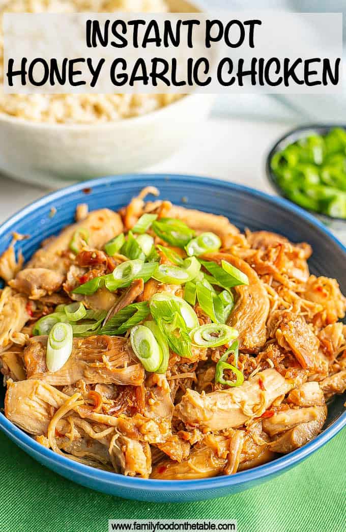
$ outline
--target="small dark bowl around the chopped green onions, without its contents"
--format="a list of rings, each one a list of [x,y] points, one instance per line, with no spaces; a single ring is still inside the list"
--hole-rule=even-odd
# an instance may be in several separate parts
[[[346,126],[340,126],[340,124],[308,124],[307,126],[301,126],[296,129],[291,129],[288,133],[286,133],[283,137],[281,137],[274,144],[271,151],[268,153],[266,157],[266,174],[267,174],[269,183],[272,185],[275,192],[279,194],[279,196],[282,196],[286,198],[286,200],[291,202],[291,200],[285,196],[285,193],[283,192],[282,188],[277,183],[277,177],[275,176],[275,173],[271,169],[271,160],[272,160],[273,155],[275,155],[277,152],[281,152],[282,149],[284,149],[289,144],[293,144],[294,142],[297,142],[297,140],[306,138],[311,134],[317,134],[317,135],[324,136],[331,129],[334,129],[335,127],[346,129]],[[293,203],[293,204],[296,205],[296,203]],[[308,211],[308,212],[311,212],[311,214],[316,216],[316,218],[318,218],[321,222],[323,222],[325,226],[329,227],[333,231],[346,231],[346,220],[344,220],[343,218],[332,218],[331,216],[328,216],[327,214],[319,214],[313,211]]]

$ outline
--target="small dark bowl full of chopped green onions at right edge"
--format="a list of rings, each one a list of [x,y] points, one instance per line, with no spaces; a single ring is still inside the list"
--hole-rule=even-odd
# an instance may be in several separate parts
[[[346,232],[346,129],[304,126],[282,137],[267,157],[277,193]]]

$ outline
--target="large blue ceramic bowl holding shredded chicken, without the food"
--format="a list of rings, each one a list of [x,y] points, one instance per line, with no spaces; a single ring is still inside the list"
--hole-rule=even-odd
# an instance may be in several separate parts
[[[240,229],[248,227],[251,230],[273,230],[293,242],[309,242],[314,248],[314,255],[309,262],[311,273],[337,278],[342,291],[346,293],[346,248],[316,218],[282,198],[201,177],[157,174],[116,176],[58,190],[32,203],[0,227],[0,253],[9,245],[12,231],[18,231],[30,234],[30,239],[21,243],[24,256],[28,259],[39,247],[41,240],[56,234],[73,221],[78,203],[87,202],[90,210],[99,207],[119,209],[148,184],[157,186],[163,199],[223,214]],[[57,209],[53,218],[49,215],[52,207]],[[3,396],[4,392],[2,401]],[[202,480],[146,480],[100,471],[46,449],[15,427],[2,413],[0,428],[38,462],[83,486],[139,501],[187,502],[222,497],[248,489],[298,464],[346,425],[344,401],[342,396],[335,399],[328,409],[323,432],[297,451],[255,469]]]

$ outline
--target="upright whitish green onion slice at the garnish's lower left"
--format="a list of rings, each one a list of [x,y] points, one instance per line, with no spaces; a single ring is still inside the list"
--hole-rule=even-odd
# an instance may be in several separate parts
[[[49,332],[46,363],[49,371],[58,371],[70,358],[73,331],[70,323],[56,323]]]

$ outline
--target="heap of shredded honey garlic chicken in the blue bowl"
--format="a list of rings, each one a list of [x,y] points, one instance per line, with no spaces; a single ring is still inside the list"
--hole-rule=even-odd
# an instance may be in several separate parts
[[[158,196],[159,191],[146,187],[119,213],[89,212],[87,204],[78,205],[76,223],[49,237],[26,265],[18,244],[23,237],[13,235],[0,257],[6,417],[57,454],[141,478],[234,475],[305,445],[323,430],[328,401],[346,392],[346,325],[338,321],[344,318],[346,299],[337,281],[310,275],[312,250],[306,243],[291,243],[268,231],[241,234],[224,216],[158,198],[146,201],[149,194]],[[178,219],[196,236],[211,231],[220,237],[220,250],[199,258],[219,266],[226,261],[248,279],[248,284],[238,280],[228,287],[234,305],[225,328],[234,329],[239,352],[234,346],[228,350],[230,341],[214,347],[196,343],[195,337],[192,342],[183,310],[169,315],[167,305],[162,315],[151,315],[146,302],[155,294],[175,301],[188,295],[174,279],[170,284],[157,280],[155,270],[158,265],[184,268],[183,245],[165,242],[154,225],[147,230],[154,247],[145,263],[137,259],[144,257],[140,240],[130,251],[106,253],[108,240],[122,232],[128,238],[127,232],[146,213]],[[76,236],[79,248],[70,246]],[[173,237],[179,240],[179,235]],[[166,253],[158,245],[167,246]],[[134,253],[134,264],[152,266],[155,275],[129,274],[129,280],[109,289],[107,279],[118,278],[122,268],[125,279],[132,271],[126,269],[130,257],[124,253]],[[202,266],[197,279],[212,284],[215,311],[226,287],[209,273]],[[74,293],[88,281],[95,290]],[[210,327],[211,343],[218,335],[214,322],[223,322],[223,314],[219,309],[216,318],[210,302],[199,296],[195,301],[194,281],[188,310],[193,328],[198,323]],[[49,329],[54,320],[66,322],[64,305],[73,302],[82,317],[70,320],[74,337],[69,358],[52,372],[47,365]],[[141,337],[143,351],[138,351],[131,335],[133,326],[150,327],[148,321],[156,331],[157,363],[161,360],[154,372],[146,369],[153,345]],[[50,323],[48,330],[42,323]],[[190,346],[190,354],[180,351],[178,340]]]

